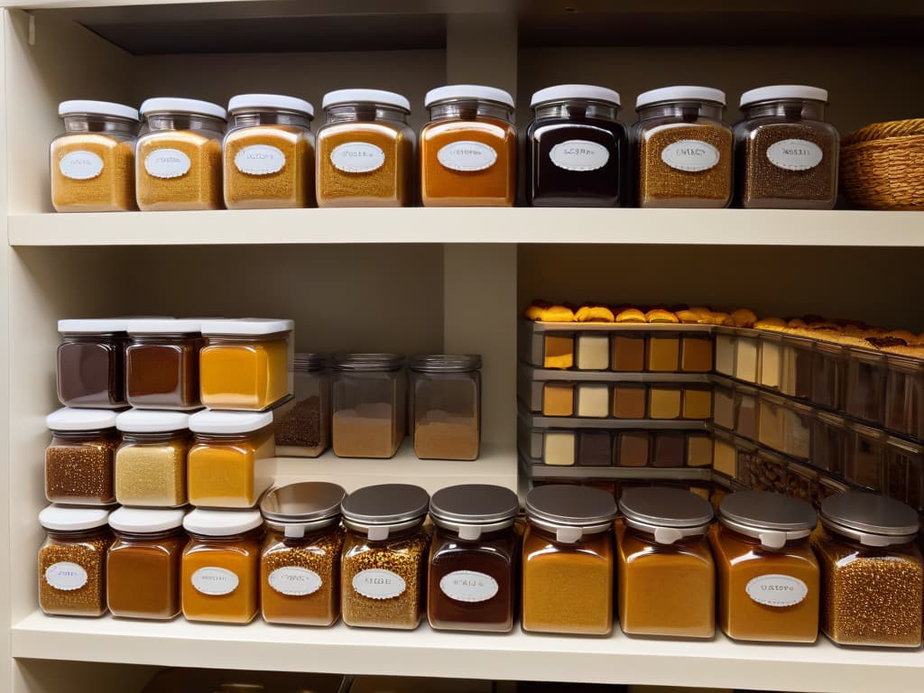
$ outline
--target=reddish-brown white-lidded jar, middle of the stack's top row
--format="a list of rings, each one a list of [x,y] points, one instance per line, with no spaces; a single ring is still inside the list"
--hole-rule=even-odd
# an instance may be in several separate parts
[[[199,402],[198,320],[130,320],[125,350],[128,404],[147,409],[196,409]]]

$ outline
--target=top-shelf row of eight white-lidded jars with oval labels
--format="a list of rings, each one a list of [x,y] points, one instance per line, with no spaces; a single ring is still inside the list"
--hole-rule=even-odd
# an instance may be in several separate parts
[[[725,207],[734,188],[744,207],[830,209],[839,136],[824,120],[827,99],[798,85],[747,91],[733,133],[723,91],[667,87],[638,96],[638,123],[627,133],[616,91],[537,91],[525,137],[528,201]],[[65,132],[51,145],[52,201],[59,212],[400,207],[416,203],[419,183],[424,206],[512,206],[513,97],[452,85],[424,103],[430,122],[418,142],[410,103],[391,91],[327,93],[317,138],[313,106],[290,96],[241,94],[227,110],[180,98],[148,99],[140,112],[64,102]]]

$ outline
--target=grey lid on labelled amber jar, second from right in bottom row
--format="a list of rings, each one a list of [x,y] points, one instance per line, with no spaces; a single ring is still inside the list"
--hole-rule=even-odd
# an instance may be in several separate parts
[[[719,505],[719,520],[728,529],[759,539],[767,549],[782,549],[786,541],[808,537],[818,524],[811,505],[769,491],[729,493]]]

